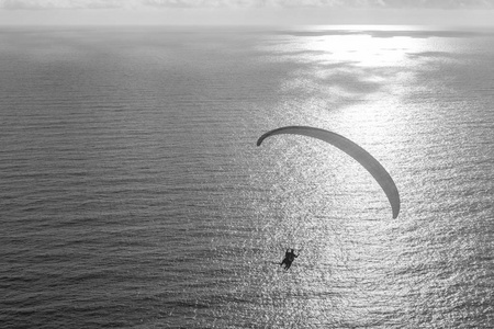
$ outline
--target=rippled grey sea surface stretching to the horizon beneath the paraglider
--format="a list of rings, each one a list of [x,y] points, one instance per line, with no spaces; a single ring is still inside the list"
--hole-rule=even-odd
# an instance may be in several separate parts
[[[493,328],[493,64],[480,30],[0,27],[0,327]],[[337,148],[256,146],[287,125],[398,217]]]

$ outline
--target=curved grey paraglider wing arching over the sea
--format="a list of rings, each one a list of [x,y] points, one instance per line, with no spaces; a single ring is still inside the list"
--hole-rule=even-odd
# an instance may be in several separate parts
[[[372,157],[367,150],[364,150],[350,139],[336,133],[305,126],[288,126],[272,129],[259,137],[259,139],[257,140],[257,146],[260,146],[266,138],[280,134],[294,134],[317,138],[329,143],[330,145],[339,148],[340,150],[352,157],[360,164],[362,164],[363,168],[366,168],[378,181],[379,185],[381,185],[382,190],[388,196],[388,200],[390,201],[391,208],[393,211],[393,218],[397,217],[400,213],[400,194],[396,185],[394,184],[393,179],[384,169],[384,167],[382,167],[382,164],[379,163],[379,161],[375,160],[375,158]]]

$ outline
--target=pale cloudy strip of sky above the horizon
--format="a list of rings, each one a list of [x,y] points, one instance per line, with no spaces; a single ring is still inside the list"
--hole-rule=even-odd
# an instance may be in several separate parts
[[[494,0],[0,0],[0,25],[494,26]]]

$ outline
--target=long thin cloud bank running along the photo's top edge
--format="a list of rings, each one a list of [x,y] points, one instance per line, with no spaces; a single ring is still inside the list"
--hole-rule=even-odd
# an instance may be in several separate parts
[[[0,0],[0,9],[391,8],[494,9],[494,0]]]

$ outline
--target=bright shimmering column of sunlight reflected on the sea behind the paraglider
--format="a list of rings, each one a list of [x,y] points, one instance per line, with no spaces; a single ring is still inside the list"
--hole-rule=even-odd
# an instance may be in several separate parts
[[[284,33],[273,56],[288,71],[273,126],[310,125],[350,138],[384,166],[405,202],[393,220],[386,196],[369,172],[324,143],[283,136],[266,146],[282,163],[273,179],[281,183],[271,184],[270,200],[278,215],[273,241],[282,243],[273,242],[271,249],[303,250],[289,279],[297,290],[284,296],[313,296],[285,306],[289,315],[302,309],[304,321],[321,327],[337,327],[339,313],[357,322],[400,308],[385,298],[403,295],[388,273],[401,248],[391,237],[411,213],[409,182],[403,174],[404,166],[414,166],[407,164],[409,136],[416,135],[409,124],[411,95],[428,88],[417,83],[424,72],[453,60],[446,47],[430,50],[446,43],[434,36],[357,30]],[[349,299],[353,303],[345,304]]]

